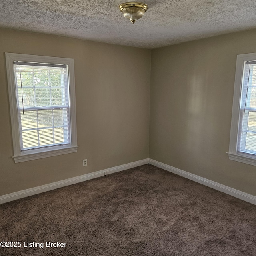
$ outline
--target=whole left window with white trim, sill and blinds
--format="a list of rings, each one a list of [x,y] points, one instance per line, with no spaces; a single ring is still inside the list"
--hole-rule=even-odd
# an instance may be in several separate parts
[[[14,161],[77,151],[74,60],[6,53]]]

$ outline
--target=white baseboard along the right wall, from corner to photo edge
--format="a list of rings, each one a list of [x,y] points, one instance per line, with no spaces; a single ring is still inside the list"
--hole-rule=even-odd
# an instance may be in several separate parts
[[[230,188],[228,186],[222,185],[220,183],[214,182],[212,180],[208,180],[206,178],[202,178],[200,176],[197,176],[195,174],[192,174],[190,172],[185,172],[183,170],[180,170],[178,168],[172,167],[170,165],[167,164],[163,164],[161,162],[158,162],[156,160],[153,159],[149,159],[149,164],[152,164],[154,166],[157,166],[159,168],[162,168],[168,172],[172,172],[175,174],[178,174],[184,178],[187,178],[189,180],[194,180],[195,182],[198,182],[200,184],[203,184],[205,186],[208,186],[210,188],[214,188],[218,191],[224,192],[226,194],[229,194],[230,196],[234,196],[236,198],[239,198],[241,200],[244,200],[246,202],[249,202],[251,204],[255,204],[256,205],[256,196],[252,196],[250,194],[244,193],[240,190],[236,190],[234,188]]]

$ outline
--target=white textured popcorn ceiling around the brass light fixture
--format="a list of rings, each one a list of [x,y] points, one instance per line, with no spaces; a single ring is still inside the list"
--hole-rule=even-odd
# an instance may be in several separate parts
[[[120,0],[0,0],[0,27],[158,48],[256,28],[256,0],[145,0],[132,24]]]

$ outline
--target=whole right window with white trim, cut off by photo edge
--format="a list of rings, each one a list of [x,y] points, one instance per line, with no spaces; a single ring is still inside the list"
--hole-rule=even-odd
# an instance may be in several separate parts
[[[256,53],[237,56],[228,155],[256,166]]]

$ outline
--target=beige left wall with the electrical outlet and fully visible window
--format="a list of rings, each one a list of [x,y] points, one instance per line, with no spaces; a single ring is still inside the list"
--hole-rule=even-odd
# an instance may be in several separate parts
[[[74,58],[78,152],[14,164],[5,52]],[[0,195],[148,158],[150,58],[150,50],[0,29]]]

